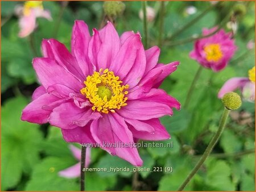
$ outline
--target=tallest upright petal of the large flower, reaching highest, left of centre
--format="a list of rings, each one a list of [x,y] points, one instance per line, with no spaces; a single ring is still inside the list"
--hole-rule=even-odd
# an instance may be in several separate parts
[[[84,76],[92,74],[92,65],[88,57],[88,46],[90,33],[87,24],[82,20],[75,20],[72,32],[71,50],[72,55],[76,57]]]

